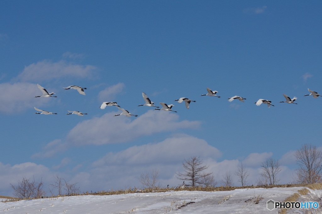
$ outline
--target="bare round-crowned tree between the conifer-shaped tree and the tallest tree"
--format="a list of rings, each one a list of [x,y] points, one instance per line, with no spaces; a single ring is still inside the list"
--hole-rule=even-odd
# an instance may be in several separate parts
[[[260,173],[260,176],[264,179],[269,181],[269,185],[275,185],[279,182],[280,179],[277,179],[277,174],[282,170],[280,167],[279,160],[275,160],[272,158],[268,158],[265,161],[262,162],[260,165],[262,168],[262,172]]]

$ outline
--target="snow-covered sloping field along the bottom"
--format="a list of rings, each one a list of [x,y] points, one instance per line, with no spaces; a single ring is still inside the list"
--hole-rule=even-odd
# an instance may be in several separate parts
[[[279,209],[266,208],[267,201],[283,201],[304,187],[272,189],[236,189],[232,191],[169,191],[130,193],[110,196],[69,196],[0,203],[0,213],[12,214],[106,214],[106,213],[245,213],[277,214]],[[317,201],[318,209],[290,209],[288,213],[321,212],[322,190],[310,190],[298,201]],[[261,199],[262,198],[262,199]],[[260,199],[256,203],[256,199]],[[246,202],[245,202],[246,201]],[[193,203],[190,203],[193,202]],[[183,206],[186,205],[186,206]]]

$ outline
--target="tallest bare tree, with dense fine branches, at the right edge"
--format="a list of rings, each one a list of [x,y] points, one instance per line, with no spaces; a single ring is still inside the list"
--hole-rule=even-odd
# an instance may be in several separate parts
[[[298,169],[295,180],[298,183],[322,182],[322,152],[312,144],[303,144],[294,154]]]

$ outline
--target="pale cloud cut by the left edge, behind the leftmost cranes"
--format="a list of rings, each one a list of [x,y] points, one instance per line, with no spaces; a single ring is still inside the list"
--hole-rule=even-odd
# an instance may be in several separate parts
[[[1,83],[0,91],[0,112],[9,114],[22,112],[28,108],[39,108],[39,106],[52,101],[52,97],[35,98],[43,93],[36,84],[31,83]]]

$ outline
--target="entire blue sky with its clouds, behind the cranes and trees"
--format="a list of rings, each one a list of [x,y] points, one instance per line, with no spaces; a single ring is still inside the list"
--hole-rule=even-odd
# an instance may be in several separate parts
[[[59,174],[82,191],[139,186],[137,176],[153,168],[175,186],[192,155],[216,180],[243,161],[253,184],[261,161],[280,159],[281,182],[292,182],[294,151],[321,146],[322,99],[303,97],[308,88],[322,93],[319,8],[319,1],[3,2],[0,195],[33,175],[48,184]],[[37,83],[57,98],[34,98]],[[69,85],[86,87],[86,96],[64,91]],[[201,97],[207,87],[221,98]],[[177,113],[137,107],[142,92]],[[279,103],[283,93],[298,105]],[[226,100],[234,95],[247,100]],[[186,109],[174,102],[180,97],[196,102]],[[275,106],[256,106],[258,99]],[[113,117],[120,111],[101,110],[103,101],[139,117]]]

